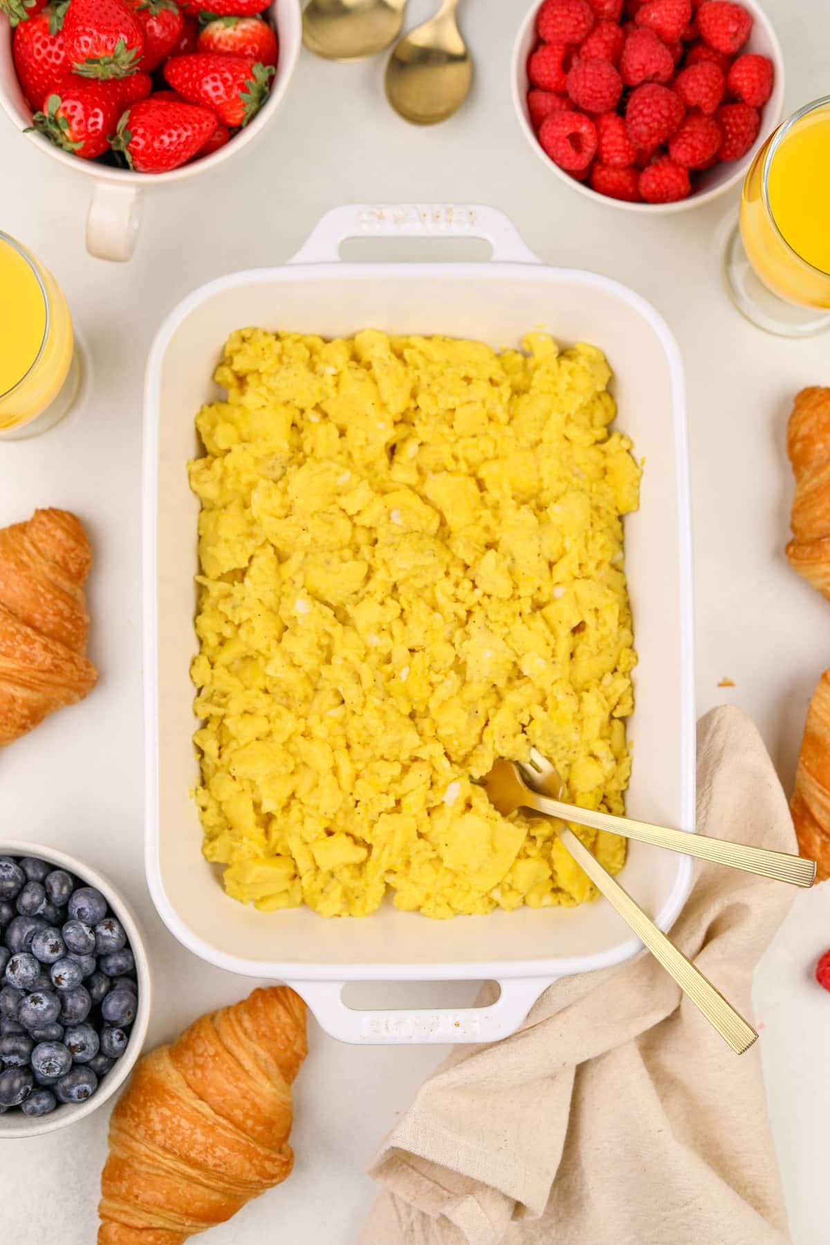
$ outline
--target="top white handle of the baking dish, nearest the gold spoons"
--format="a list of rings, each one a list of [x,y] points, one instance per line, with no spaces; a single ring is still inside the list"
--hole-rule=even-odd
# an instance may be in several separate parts
[[[497,261],[539,264],[498,208],[457,203],[355,203],[332,208],[289,264],[332,264],[347,238],[482,238]]]

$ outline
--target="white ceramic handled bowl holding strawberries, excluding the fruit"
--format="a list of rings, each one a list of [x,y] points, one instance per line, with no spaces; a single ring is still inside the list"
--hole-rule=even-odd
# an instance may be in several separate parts
[[[34,131],[26,134],[26,138],[35,143],[44,154],[51,156],[52,159],[60,161],[67,168],[92,179],[92,199],[86,227],[86,244],[90,254],[97,255],[100,259],[129,259],[141,224],[142,190],[156,190],[185,178],[214,172],[220,164],[238,156],[273,121],[274,113],[285,98],[302,45],[300,0],[275,0],[268,10],[268,16],[280,40],[280,59],[276,76],[271,80],[269,97],[251,123],[234,134],[230,142],[220,147],[213,156],[205,156],[204,159],[193,164],[183,164],[182,168],[174,168],[172,173],[133,173],[131,169],[110,168],[95,161],[78,159],[77,156],[61,151],[60,147]],[[0,106],[5,110],[11,123],[17,129],[24,131],[31,126],[31,108],[17,82],[11,56],[11,27],[7,21],[1,20]],[[34,190],[35,187],[32,187],[32,193]]]

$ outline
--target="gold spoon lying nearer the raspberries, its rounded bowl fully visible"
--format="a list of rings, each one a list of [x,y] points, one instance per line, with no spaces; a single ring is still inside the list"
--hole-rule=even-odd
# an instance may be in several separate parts
[[[458,0],[443,0],[436,16],[404,35],[389,55],[387,100],[416,126],[452,117],[469,93],[473,60],[458,30],[457,9]]]

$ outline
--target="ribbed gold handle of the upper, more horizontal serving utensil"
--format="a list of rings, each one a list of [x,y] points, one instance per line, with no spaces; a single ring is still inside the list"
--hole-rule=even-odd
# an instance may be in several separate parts
[[[528,793],[528,804],[549,817],[576,822],[577,825],[590,825],[595,830],[625,834],[627,839],[638,839],[657,848],[668,848],[669,852],[701,857],[716,864],[728,864],[733,869],[760,874],[762,878],[789,881],[793,886],[811,886],[815,881],[815,860],[808,860],[805,857],[769,852],[767,848],[753,848],[745,843],[730,843],[725,839],[711,839],[706,834],[688,834],[686,830],[669,829],[667,825],[632,822],[628,817],[613,817],[611,813],[577,808],[575,804],[564,804],[559,799],[550,799],[535,792]]]

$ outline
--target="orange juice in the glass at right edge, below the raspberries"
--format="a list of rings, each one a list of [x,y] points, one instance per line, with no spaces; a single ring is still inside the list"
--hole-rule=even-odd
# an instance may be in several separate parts
[[[830,101],[772,134],[747,174],[740,238],[764,285],[801,308],[830,308]]]

